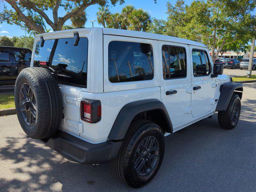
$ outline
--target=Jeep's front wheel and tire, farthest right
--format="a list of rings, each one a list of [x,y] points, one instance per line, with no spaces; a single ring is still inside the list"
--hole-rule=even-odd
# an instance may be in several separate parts
[[[237,94],[233,94],[227,110],[218,112],[219,125],[224,129],[233,129],[238,124],[241,112],[241,100]]]

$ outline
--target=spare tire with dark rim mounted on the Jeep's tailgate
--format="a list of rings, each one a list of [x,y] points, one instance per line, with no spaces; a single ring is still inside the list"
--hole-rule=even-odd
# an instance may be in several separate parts
[[[42,139],[57,132],[62,119],[62,98],[49,70],[23,69],[16,79],[14,98],[18,121],[29,137]]]

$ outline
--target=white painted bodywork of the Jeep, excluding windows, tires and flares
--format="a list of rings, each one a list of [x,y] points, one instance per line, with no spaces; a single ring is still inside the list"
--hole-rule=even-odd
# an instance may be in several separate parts
[[[230,81],[225,75],[217,78],[211,78],[211,75],[194,78],[191,49],[207,50],[207,48],[204,44],[181,38],[128,30],[84,28],[41,34],[35,38],[35,44],[40,40],[40,36],[45,40],[72,38],[74,32],[79,32],[80,37],[88,38],[87,88],[59,84],[64,107],[64,118],[60,129],[90,143],[105,142],[121,108],[130,102],[145,99],[157,99],[164,103],[175,132],[213,114],[217,103],[211,105],[211,100],[219,98],[220,85]],[[154,78],[145,81],[111,83],[108,78],[108,44],[113,40],[151,44],[154,53]],[[35,44],[31,67],[33,67]],[[186,48],[186,78],[164,80],[161,50],[163,44]],[[217,87],[212,88],[212,83],[216,83]],[[193,89],[196,85],[200,85],[202,89],[195,93],[192,90],[192,94],[186,93],[187,88]],[[165,93],[170,89],[175,89],[178,93],[167,96]],[[77,102],[79,99],[100,100],[102,115],[99,122],[91,124],[81,120],[80,105]],[[189,107],[192,114],[184,114],[185,109]],[[79,132],[81,124],[83,131]]]

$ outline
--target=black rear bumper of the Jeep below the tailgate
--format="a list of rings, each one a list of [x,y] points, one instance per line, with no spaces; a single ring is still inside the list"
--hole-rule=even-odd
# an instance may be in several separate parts
[[[122,141],[92,144],[64,132],[58,132],[54,137],[41,141],[64,157],[80,164],[109,162],[118,156],[122,145]]]

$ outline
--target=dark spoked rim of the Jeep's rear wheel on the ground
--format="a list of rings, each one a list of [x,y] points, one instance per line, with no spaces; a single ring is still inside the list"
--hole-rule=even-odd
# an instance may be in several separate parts
[[[159,158],[159,142],[154,136],[144,138],[134,156],[134,169],[139,176],[149,174],[155,167]]]

